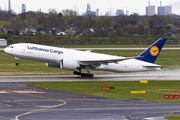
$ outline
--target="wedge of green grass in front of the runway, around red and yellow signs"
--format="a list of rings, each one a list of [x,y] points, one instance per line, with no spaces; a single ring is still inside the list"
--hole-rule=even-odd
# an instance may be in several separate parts
[[[180,94],[180,81],[85,81],[85,82],[44,82],[28,86],[51,90],[73,92],[118,100],[164,99],[164,95]],[[102,86],[115,87],[114,90],[101,90]],[[131,94],[131,91],[146,91],[145,94]]]

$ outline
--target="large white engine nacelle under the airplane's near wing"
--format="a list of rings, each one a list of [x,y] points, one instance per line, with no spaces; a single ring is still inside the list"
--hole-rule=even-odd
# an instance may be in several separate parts
[[[66,70],[76,70],[80,65],[75,60],[64,58],[60,61],[60,67]]]

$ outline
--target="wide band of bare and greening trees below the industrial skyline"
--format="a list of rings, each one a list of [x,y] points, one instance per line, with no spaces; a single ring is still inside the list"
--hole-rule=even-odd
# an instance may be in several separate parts
[[[79,31],[77,31],[76,36],[86,29],[92,28],[94,31],[94,33],[82,33],[79,41],[70,35],[59,37],[58,41],[66,41],[63,43],[68,43],[68,41],[76,41],[77,44],[80,41],[90,43],[94,39],[93,37],[106,37],[100,40],[96,39],[99,42],[98,44],[106,43],[105,41],[120,44],[126,40],[132,40],[138,43],[137,41],[139,39],[154,41],[159,37],[168,37],[174,40],[174,43],[177,43],[180,34],[180,17],[172,17],[170,15],[140,16],[136,13],[130,16],[94,16],[90,14],[79,16],[73,10],[68,9],[61,12],[57,12],[55,9],[49,9],[48,13],[28,11],[19,15],[13,12],[0,11],[0,27],[9,27],[13,31],[13,35],[8,35],[10,42],[17,42],[18,40],[23,42],[22,39],[27,38],[27,36],[17,37],[17,35],[21,29],[25,29],[28,26],[33,26],[36,29],[49,29],[51,31],[53,31],[55,26],[61,26],[67,30],[71,27],[78,27]],[[14,37],[14,34],[16,37]],[[174,34],[176,36],[171,38]],[[44,36],[48,35],[37,33],[35,36],[29,37],[28,42],[36,41],[39,43],[39,41],[46,39],[46,42],[53,43],[52,41],[55,41],[57,43],[58,37],[54,37],[52,34],[47,38]]]

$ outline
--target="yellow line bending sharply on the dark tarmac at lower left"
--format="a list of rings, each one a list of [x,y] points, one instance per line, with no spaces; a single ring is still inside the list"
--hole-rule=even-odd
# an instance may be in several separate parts
[[[23,94],[23,93],[19,93],[19,94]],[[52,109],[52,108],[56,108],[56,107],[66,105],[66,101],[63,101],[63,100],[60,100],[60,99],[51,99],[51,98],[46,98],[46,97],[41,97],[41,96],[36,96],[36,95],[29,95],[29,94],[23,94],[23,95],[33,96],[33,97],[38,97],[38,98],[44,98],[44,99],[47,99],[47,100],[56,100],[56,101],[63,102],[63,104],[50,106],[50,107],[43,108],[43,109],[32,110],[30,112],[26,112],[26,113],[23,113],[23,114],[20,114],[20,115],[16,116],[15,120],[19,120],[19,117],[24,116],[24,115],[33,114],[33,113],[36,113],[36,112],[43,112],[44,110],[48,110],[48,109]]]

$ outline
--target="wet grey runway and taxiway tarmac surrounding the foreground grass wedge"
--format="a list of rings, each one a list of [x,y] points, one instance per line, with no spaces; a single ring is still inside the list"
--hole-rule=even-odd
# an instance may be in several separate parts
[[[121,101],[26,86],[30,82],[43,81],[124,81],[135,78],[133,75],[113,76],[95,76],[94,79],[77,76],[1,76],[0,120],[163,120],[163,116],[180,114],[179,103]],[[139,79],[143,77],[150,79],[152,76],[139,75]],[[163,79],[163,76],[156,77]],[[180,76],[176,77],[179,80]],[[167,76],[164,78],[167,79]]]

